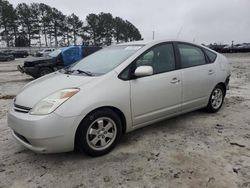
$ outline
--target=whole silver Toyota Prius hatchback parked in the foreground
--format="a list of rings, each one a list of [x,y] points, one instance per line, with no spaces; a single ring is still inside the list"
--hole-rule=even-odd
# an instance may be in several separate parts
[[[226,95],[227,59],[182,41],[104,48],[27,84],[8,112],[14,138],[40,153],[99,156],[121,136],[193,110],[217,112]]]

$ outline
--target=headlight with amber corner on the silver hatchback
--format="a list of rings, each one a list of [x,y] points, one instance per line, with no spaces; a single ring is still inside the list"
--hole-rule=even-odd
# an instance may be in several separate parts
[[[80,89],[63,89],[57,91],[52,95],[46,97],[45,99],[39,101],[30,111],[32,115],[46,115],[53,112],[70,97],[78,93]]]

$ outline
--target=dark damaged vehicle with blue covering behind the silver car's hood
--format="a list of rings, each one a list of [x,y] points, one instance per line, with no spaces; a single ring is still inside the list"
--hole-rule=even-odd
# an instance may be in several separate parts
[[[96,46],[70,46],[60,48],[51,52],[46,57],[27,59],[24,61],[23,66],[18,65],[17,68],[22,73],[38,78],[69,66],[99,49],[101,49],[101,47]]]

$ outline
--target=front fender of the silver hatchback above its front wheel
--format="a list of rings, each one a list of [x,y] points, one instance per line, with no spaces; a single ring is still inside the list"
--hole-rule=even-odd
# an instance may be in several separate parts
[[[115,107],[124,114],[129,130],[132,126],[130,83],[118,79],[115,72],[80,87],[79,93],[62,104],[55,113],[64,117],[80,116],[83,119],[93,110],[106,106]]]

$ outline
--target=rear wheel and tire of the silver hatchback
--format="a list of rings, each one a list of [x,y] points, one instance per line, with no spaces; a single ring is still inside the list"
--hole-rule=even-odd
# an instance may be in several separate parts
[[[210,95],[206,110],[210,113],[218,112],[224,103],[225,95],[225,88],[221,85],[217,85]]]

